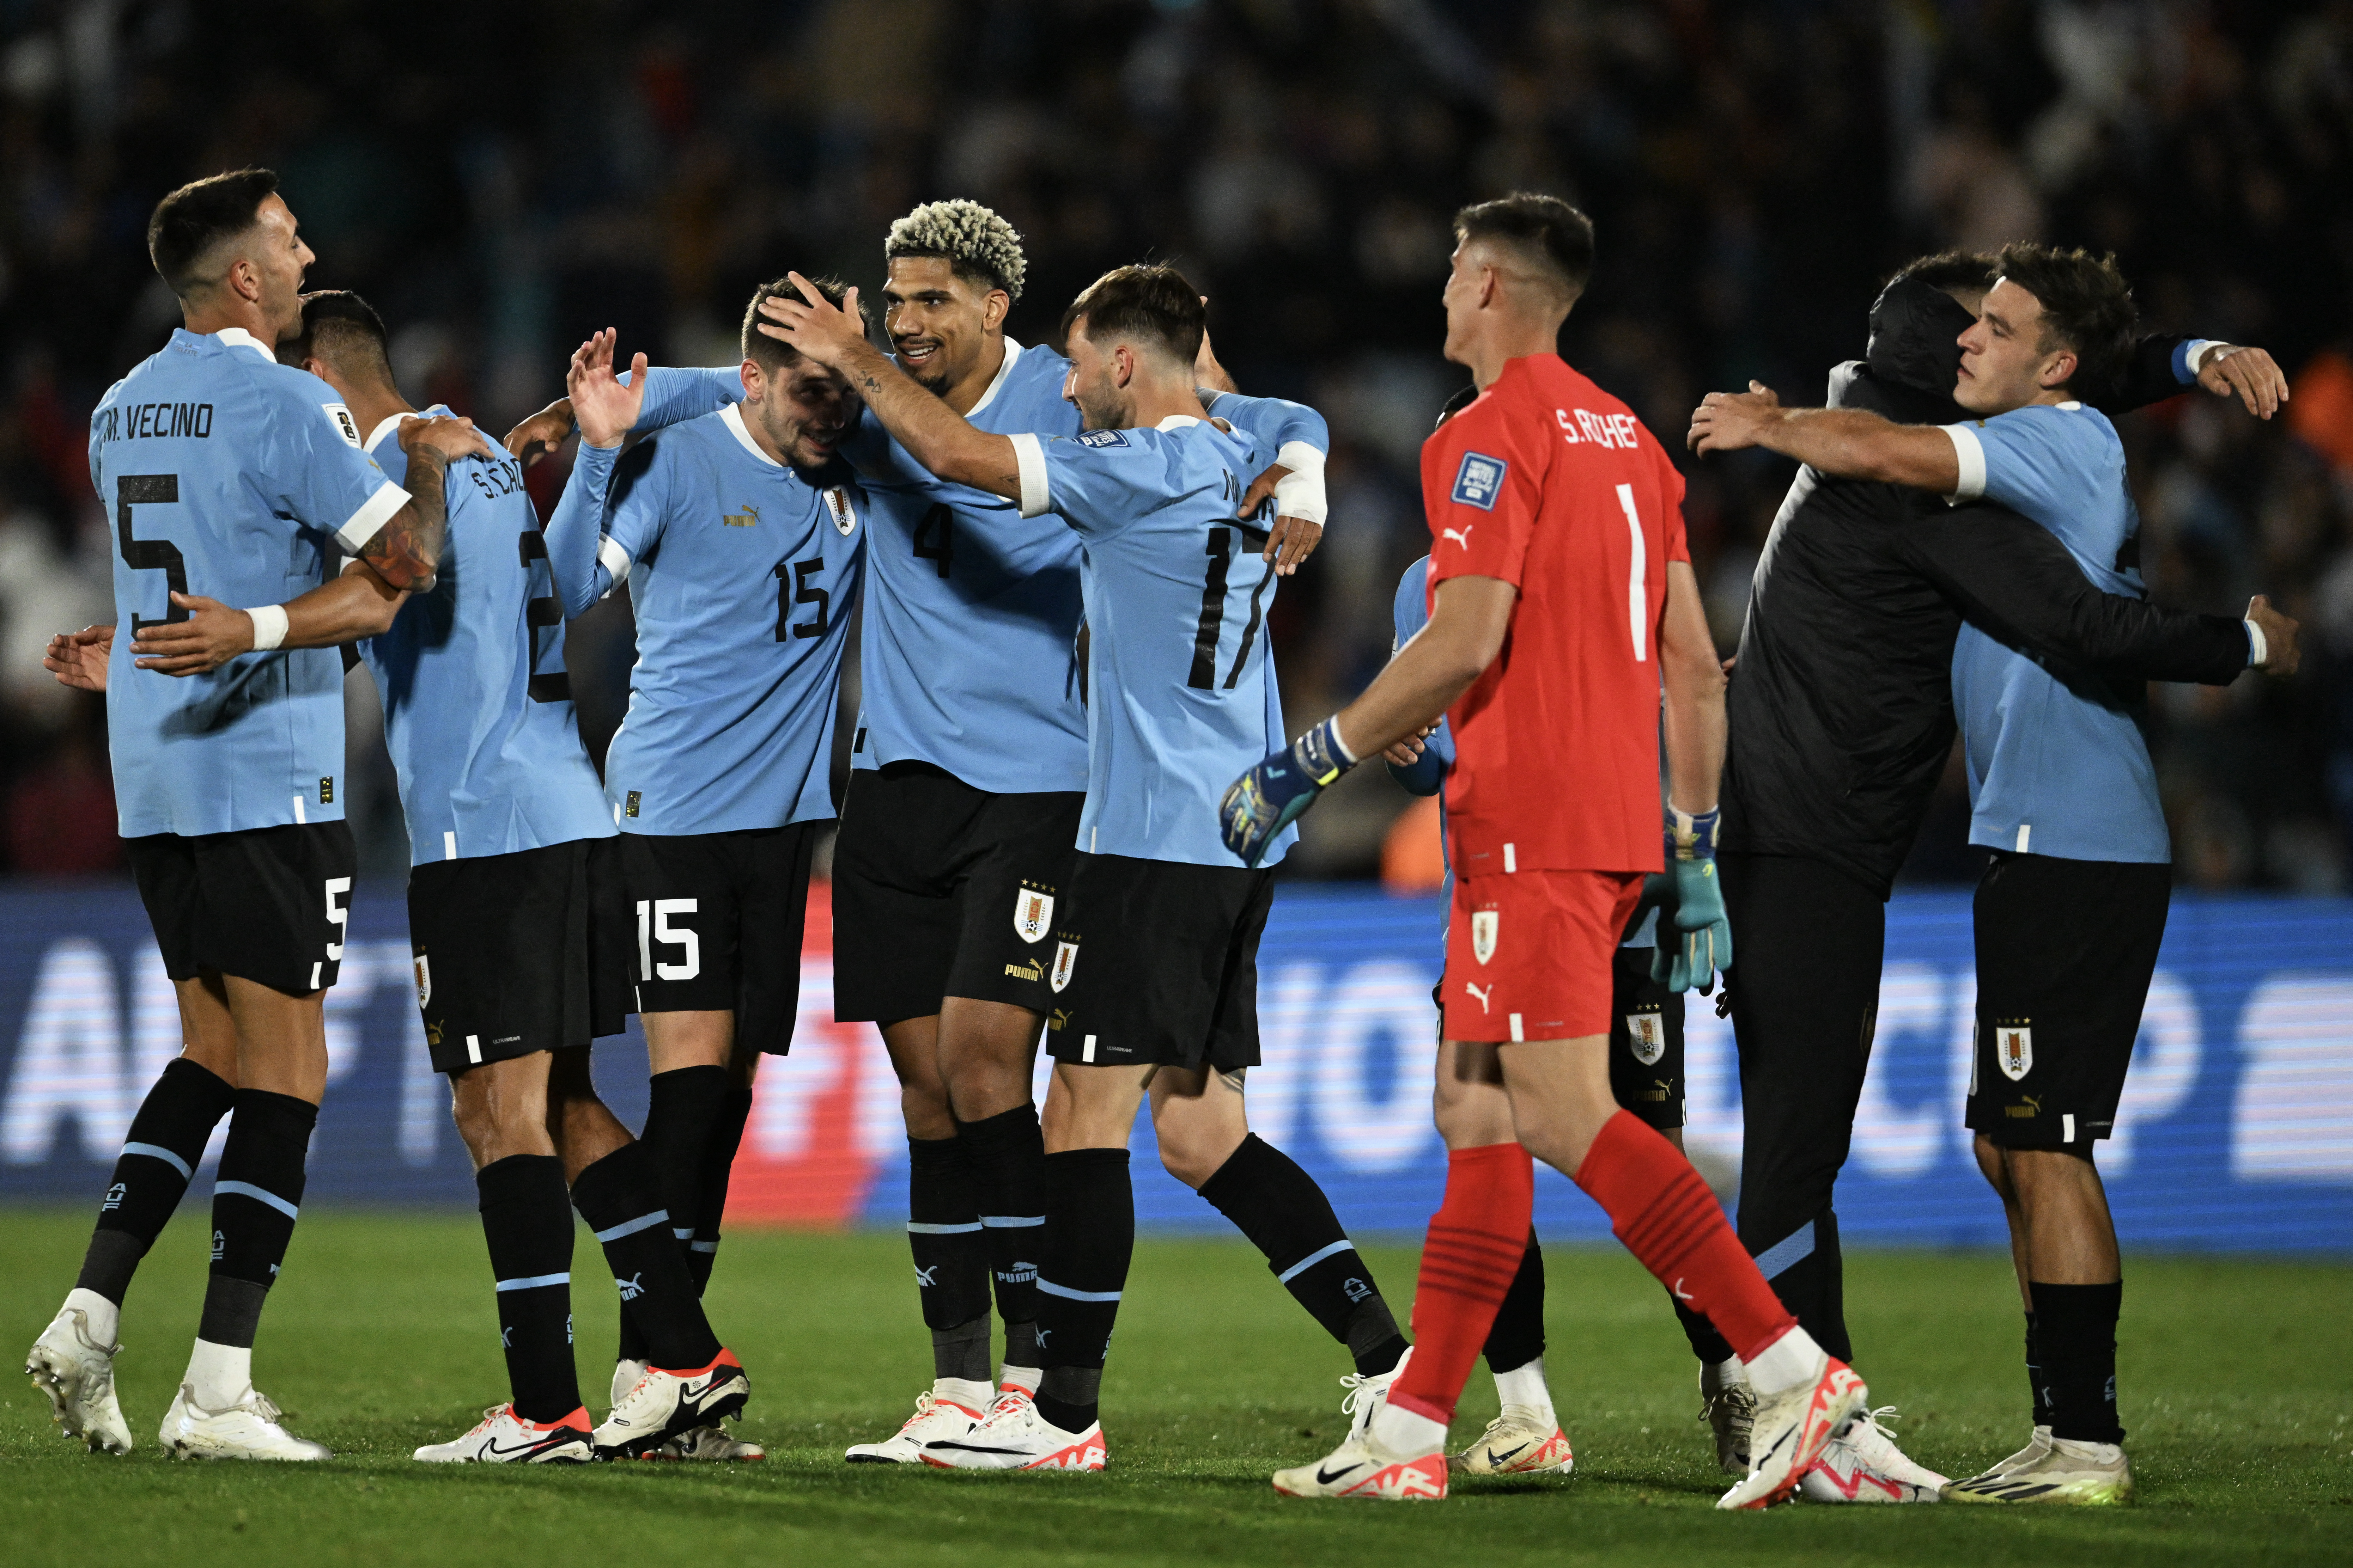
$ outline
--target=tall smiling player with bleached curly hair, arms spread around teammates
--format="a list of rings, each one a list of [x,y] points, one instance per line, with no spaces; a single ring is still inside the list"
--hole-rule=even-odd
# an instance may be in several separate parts
[[[882,327],[918,386],[981,430],[1080,430],[1061,395],[1068,362],[1005,334],[1026,261],[1002,216],[967,200],[925,202],[892,223],[882,249]],[[1207,339],[1195,378],[1226,383]],[[732,369],[652,369],[635,428],[739,395]],[[1322,418],[1231,390],[1207,400],[1278,449],[1235,515],[1273,496],[1261,555],[1289,571],[1325,515]],[[548,416],[508,442],[560,440],[572,414],[558,404]],[[1080,541],[1056,517],[1028,520],[1005,496],[934,477],[871,416],[842,437],[842,454],[866,482],[875,545],[833,849],[835,1016],[878,1023],[899,1074],[908,1244],[934,1371],[899,1432],[845,1458],[911,1465],[995,1399],[991,1274],[1005,1319],[1000,1380],[1019,1394],[1038,1387],[1045,1145],[1031,1067],[1054,1006],[1047,938],[1087,788]],[[1249,1161],[1202,1197],[1224,1208],[1247,1175]],[[1268,1255],[1278,1274],[1299,1262],[1282,1248]],[[1292,1286],[1325,1288],[1315,1269]]]

